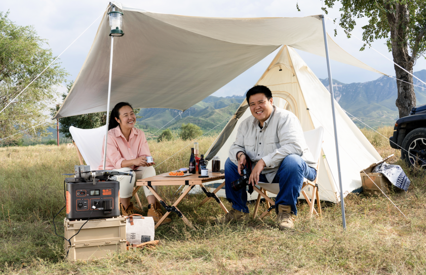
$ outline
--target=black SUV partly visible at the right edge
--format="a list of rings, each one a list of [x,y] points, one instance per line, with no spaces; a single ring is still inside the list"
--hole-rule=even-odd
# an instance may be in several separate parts
[[[389,140],[392,148],[401,149],[401,159],[408,165],[426,169],[426,104],[397,120]]]

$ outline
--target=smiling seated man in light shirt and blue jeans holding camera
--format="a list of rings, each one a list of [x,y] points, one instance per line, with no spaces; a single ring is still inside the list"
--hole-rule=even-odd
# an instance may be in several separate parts
[[[226,198],[233,204],[220,221],[247,221],[249,209],[245,188],[236,191],[231,182],[241,176],[246,160],[252,162],[249,184],[277,183],[280,192],[275,201],[277,223],[281,230],[293,228],[292,215],[297,214],[296,201],[303,178],[315,180],[316,160],[306,146],[302,127],[290,111],[273,105],[272,93],[265,86],[255,86],[246,95],[253,116],[238,128],[237,138],[225,163]]]

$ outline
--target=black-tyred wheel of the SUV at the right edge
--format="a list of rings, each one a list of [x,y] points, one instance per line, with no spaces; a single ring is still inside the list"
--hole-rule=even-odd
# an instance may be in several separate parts
[[[414,168],[426,169],[426,128],[409,132],[402,141],[401,159]]]

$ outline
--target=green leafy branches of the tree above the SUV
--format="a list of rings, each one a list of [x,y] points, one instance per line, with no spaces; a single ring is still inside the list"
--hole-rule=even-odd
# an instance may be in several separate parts
[[[332,8],[336,2],[342,5],[338,23],[348,31],[351,32],[354,29],[356,19],[368,18],[368,24],[362,27],[364,30],[362,38],[368,44],[385,38],[389,51],[395,51],[395,47],[403,48],[408,45],[412,63],[426,51],[425,0],[325,0],[326,7],[322,9],[327,14],[327,7]],[[398,14],[402,9],[407,9],[405,16]],[[336,19],[334,21],[336,22]],[[392,40],[391,28],[402,30],[404,35],[398,35]],[[334,31],[336,35],[337,30]],[[349,33],[346,35],[351,36]],[[365,46],[361,50],[364,50]]]

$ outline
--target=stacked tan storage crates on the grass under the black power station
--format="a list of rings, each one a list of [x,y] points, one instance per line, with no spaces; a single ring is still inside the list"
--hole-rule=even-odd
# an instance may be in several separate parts
[[[65,218],[65,239],[77,233],[85,222]],[[65,251],[69,249],[68,260],[71,262],[109,258],[117,250],[126,250],[126,218],[89,220],[70,241],[71,247],[65,241]]]

